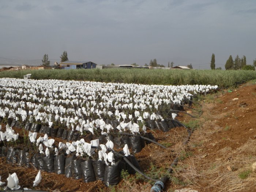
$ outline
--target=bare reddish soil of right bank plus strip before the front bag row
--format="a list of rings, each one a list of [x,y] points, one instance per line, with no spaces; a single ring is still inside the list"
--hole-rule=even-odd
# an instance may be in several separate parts
[[[166,192],[182,188],[205,192],[256,191],[256,173],[251,172],[251,165],[256,162],[256,85],[244,84],[232,92],[219,91],[200,102],[203,113],[188,146],[182,145],[187,137],[184,128],[155,131],[157,141],[168,149],[153,143],[146,145],[136,154],[140,166],[150,176],[155,169],[161,170],[160,177],[177,155],[183,155],[166,183]],[[0,167],[1,181],[7,182],[8,174],[16,172],[22,187],[45,191],[150,191],[153,184],[136,175],[108,188],[101,181],[84,183],[82,179],[42,172],[41,183],[33,188],[38,170],[6,164],[5,158],[0,158]],[[245,171],[249,174],[240,178]]]

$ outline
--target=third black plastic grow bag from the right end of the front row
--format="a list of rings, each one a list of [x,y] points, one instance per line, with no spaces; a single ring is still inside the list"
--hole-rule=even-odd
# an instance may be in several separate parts
[[[91,159],[81,162],[82,177],[84,182],[96,181],[93,161]]]

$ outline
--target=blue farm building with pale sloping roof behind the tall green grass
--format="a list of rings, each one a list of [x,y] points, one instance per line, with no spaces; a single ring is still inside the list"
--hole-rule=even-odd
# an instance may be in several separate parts
[[[57,66],[61,69],[93,69],[96,68],[96,65],[91,61],[64,61]]]

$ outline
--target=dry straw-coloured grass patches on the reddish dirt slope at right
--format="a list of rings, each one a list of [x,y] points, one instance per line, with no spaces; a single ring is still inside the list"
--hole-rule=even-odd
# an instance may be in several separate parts
[[[211,138],[219,127],[216,121],[223,117],[212,116],[210,111],[214,104],[204,104],[206,113],[201,117],[202,128],[193,133],[188,147],[204,142]],[[203,130],[203,131],[202,131]],[[180,161],[174,169],[173,177],[181,184],[173,183],[170,191],[176,188],[190,187],[199,191],[253,191],[256,189],[256,173],[252,173],[252,163],[256,162],[256,140],[248,139],[241,147],[232,150],[222,148],[214,154],[214,158],[207,153],[199,152]]]

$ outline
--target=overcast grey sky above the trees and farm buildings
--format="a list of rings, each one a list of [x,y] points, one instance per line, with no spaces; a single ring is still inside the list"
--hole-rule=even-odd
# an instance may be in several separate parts
[[[0,0],[0,26],[0,57],[11,59],[66,50],[97,64],[209,69],[214,53],[224,69],[230,54],[256,58],[256,0]]]

